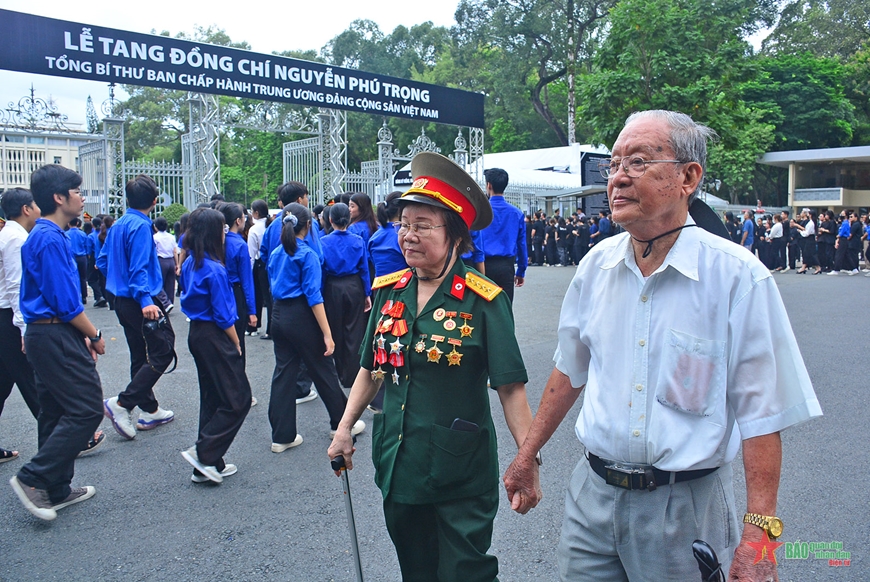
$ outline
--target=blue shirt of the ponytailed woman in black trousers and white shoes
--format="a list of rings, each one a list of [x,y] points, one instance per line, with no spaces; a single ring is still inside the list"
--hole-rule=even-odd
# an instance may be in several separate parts
[[[269,255],[269,286],[272,299],[293,299],[304,295],[308,305],[314,307],[323,303],[320,286],[323,275],[320,259],[308,241],[296,239],[296,253],[288,255],[284,247],[278,245]]]

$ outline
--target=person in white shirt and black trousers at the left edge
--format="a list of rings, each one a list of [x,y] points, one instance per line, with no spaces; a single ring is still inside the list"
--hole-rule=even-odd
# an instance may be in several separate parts
[[[33,368],[24,355],[24,330],[27,325],[21,316],[18,294],[21,286],[21,247],[27,233],[39,218],[39,207],[33,195],[23,188],[3,192],[3,213],[6,226],[0,231],[0,413],[3,404],[17,385],[21,397],[36,418],[39,415],[39,397]],[[18,451],[0,448],[0,463],[18,457]]]

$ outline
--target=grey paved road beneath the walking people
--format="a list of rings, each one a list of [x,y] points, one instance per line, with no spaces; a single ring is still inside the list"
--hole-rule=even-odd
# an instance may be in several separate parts
[[[573,269],[533,268],[526,286],[517,290],[517,335],[533,409],[552,369],[558,310],[572,274]],[[782,541],[837,541],[852,553],[850,567],[833,568],[812,554],[807,560],[786,560],[779,550],[780,579],[868,580],[870,423],[864,370],[870,343],[863,319],[870,279],[793,272],[776,278],[825,411],[822,419],[784,434]],[[99,371],[105,394],[114,395],[128,375],[126,343],[113,313],[93,307],[87,312],[112,338]],[[340,482],[326,458],[329,426],[322,403],[298,408],[302,446],[280,455],[269,451],[270,342],[249,340],[248,375],[260,405],[251,410],[227,455],[239,473],[221,486],[190,482],[190,467],[179,453],[196,438],[198,388],[184,316],[176,312],[172,321],[179,338],[178,369],[161,380],[157,395],[177,420],[140,433],[133,442],[123,441],[104,422],[107,443],[76,464],[74,484],[95,485],[93,500],[64,510],[55,522],[41,522],[5,484],[21,462],[0,465],[0,580],[353,580]],[[364,419],[370,416],[366,412]],[[498,399],[493,416],[504,470],[515,451]],[[541,505],[518,516],[502,493],[492,546],[502,580],[557,578],[562,499],[581,454],[572,430],[575,418],[576,410],[544,449]],[[25,459],[36,451],[36,422],[17,392],[0,421],[0,444],[19,449]],[[363,567],[368,580],[399,580],[372,480],[370,444],[367,431],[350,475]],[[738,499],[743,499],[737,468]],[[686,559],[692,559],[688,548]]]

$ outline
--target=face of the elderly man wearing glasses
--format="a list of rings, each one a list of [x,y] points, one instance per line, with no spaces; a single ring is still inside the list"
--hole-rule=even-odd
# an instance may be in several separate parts
[[[641,118],[630,123],[619,134],[612,156],[675,159],[667,122]],[[613,221],[638,238],[681,226],[688,213],[688,198],[700,180],[700,169],[698,164],[647,164],[643,176],[631,178],[620,167],[607,181]]]

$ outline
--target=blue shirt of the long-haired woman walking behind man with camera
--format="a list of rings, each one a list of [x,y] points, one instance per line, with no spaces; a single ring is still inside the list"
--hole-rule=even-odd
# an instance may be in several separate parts
[[[235,324],[236,299],[227,269],[208,255],[199,269],[193,256],[181,265],[181,311],[192,321],[213,321],[221,329]]]

